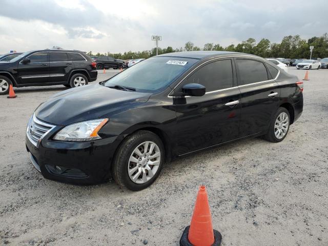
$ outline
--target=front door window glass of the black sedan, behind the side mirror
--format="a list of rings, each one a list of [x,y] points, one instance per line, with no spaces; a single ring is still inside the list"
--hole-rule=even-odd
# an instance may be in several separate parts
[[[206,91],[227,89],[233,86],[233,72],[231,59],[218,60],[207,64],[187,78],[186,84],[200,84]]]

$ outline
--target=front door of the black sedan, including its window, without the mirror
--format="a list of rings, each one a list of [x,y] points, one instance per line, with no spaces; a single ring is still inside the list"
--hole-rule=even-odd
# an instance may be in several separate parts
[[[235,86],[236,74],[232,59],[210,61],[174,90],[190,83],[206,87],[200,97],[175,98],[177,114],[176,151],[178,155],[215,146],[238,138],[239,89]]]

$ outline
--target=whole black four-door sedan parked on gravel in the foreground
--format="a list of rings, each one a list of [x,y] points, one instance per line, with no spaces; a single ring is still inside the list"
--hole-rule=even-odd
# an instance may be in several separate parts
[[[137,191],[178,156],[256,136],[282,141],[302,113],[302,91],[296,76],[258,56],[162,54],[52,96],[31,116],[26,148],[46,178],[112,175]]]

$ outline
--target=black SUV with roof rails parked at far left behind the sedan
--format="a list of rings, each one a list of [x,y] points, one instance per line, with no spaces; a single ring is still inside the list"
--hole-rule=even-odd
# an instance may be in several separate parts
[[[96,63],[76,50],[36,50],[0,61],[0,95],[9,85],[77,87],[97,79]]]

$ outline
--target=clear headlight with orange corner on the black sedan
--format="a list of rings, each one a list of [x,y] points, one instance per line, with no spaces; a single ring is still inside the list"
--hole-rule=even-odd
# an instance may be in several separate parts
[[[100,139],[98,131],[108,122],[108,118],[105,119],[93,119],[78,122],[61,129],[54,137],[54,140],[60,141],[90,141]]]

